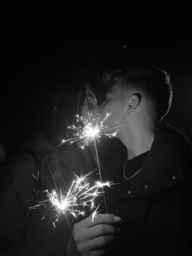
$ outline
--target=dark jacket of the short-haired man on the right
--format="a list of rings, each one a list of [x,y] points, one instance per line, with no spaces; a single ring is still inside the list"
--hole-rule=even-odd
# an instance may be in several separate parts
[[[142,171],[124,188],[126,153],[114,153],[116,157],[108,156],[103,171],[106,179],[120,184],[109,188],[106,197],[108,210],[123,223],[109,255],[190,255],[192,155],[188,139],[172,126],[160,124]]]

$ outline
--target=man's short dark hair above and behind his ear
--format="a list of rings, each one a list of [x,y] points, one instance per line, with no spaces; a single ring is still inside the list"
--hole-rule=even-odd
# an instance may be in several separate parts
[[[107,73],[104,82],[108,86],[119,85],[126,89],[133,88],[138,94],[148,99],[148,109],[155,122],[165,117],[172,104],[172,85],[168,73],[149,65],[126,68],[115,74]]]

